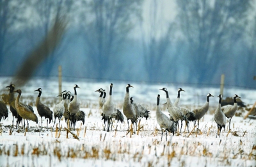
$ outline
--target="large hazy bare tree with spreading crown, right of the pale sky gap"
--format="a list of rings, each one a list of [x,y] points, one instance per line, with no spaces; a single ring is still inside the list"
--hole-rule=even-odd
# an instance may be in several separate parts
[[[191,79],[211,82],[227,56],[232,43],[242,38],[249,1],[182,0],[179,6],[180,29],[186,37],[184,46]],[[231,69],[230,69],[231,70]]]

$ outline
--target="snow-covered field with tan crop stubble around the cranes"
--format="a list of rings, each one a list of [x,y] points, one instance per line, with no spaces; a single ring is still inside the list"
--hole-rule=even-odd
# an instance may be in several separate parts
[[[4,90],[6,79],[1,79]],[[210,98],[210,109],[199,124],[200,132],[184,133],[184,126],[181,134],[168,134],[168,141],[163,136],[161,141],[161,131],[156,122],[156,99],[157,94],[161,95],[160,104],[166,102],[166,96],[160,88],[166,87],[170,93],[172,102],[177,97],[178,86],[173,85],[147,85],[132,84],[130,95],[134,101],[148,107],[150,118],[141,119],[141,131],[137,134],[127,134],[127,121],[124,123],[113,123],[113,131],[102,131],[103,121],[100,116],[99,104],[97,100],[99,93],[95,90],[104,88],[109,90],[110,83],[63,83],[63,90],[67,89],[73,93],[73,85],[78,84],[81,89],[77,89],[77,95],[81,102],[81,110],[86,114],[85,123],[78,122],[77,129],[81,129],[79,135],[77,131],[72,131],[78,136],[76,139],[72,134],[63,129],[66,127],[65,120],[61,120],[61,132],[56,133],[56,127],[51,131],[46,131],[46,120],[43,118],[43,131],[40,131],[41,118],[36,107],[34,110],[38,116],[38,124],[29,122],[29,131],[24,132],[12,127],[12,113],[2,120],[3,123],[0,134],[0,166],[255,166],[256,165],[256,123],[255,120],[234,116],[231,122],[231,132],[228,133],[228,122],[225,132],[221,131],[220,138],[216,136],[216,123],[214,122],[214,110],[218,105],[218,88],[191,88],[189,86],[179,86],[186,90],[180,93],[180,106],[186,105],[191,109],[202,106],[207,93],[212,93]],[[124,100],[126,83],[113,83],[113,100],[116,106],[122,111],[122,101]],[[42,98],[47,97],[42,102],[52,101],[51,109],[58,102],[58,84],[54,81],[45,83],[44,81],[31,81],[22,88],[22,102],[35,103],[37,88],[42,88]],[[107,91],[108,92],[108,91]],[[3,93],[7,93],[4,91]],[[256,99],[255,90],[226,89],[226,95],[232,96],[237,93],[246,104],[253,104]],[[195,98],[196,97],[196,98]],[[224,97],[225,98],[225,97]],[[162,111],[168,115],[167,110],[162,107]],[[228,120],[227,120],[228,121]],[[52,127],[51,122],[49,127]],[[117,129],[116,129],[117,125]],[[183,123],[184,125],[184,123]],[[233,127],[234,126],[234,127]],[[85,131],[86,127],[86,131]],[[189,130],[193,129],[193,123],[189,123]],[[116,131],[115,131],[116,129]],[[12,134],[10,135],[10,131]],[[86,132],[84,134],[84,132]],[[60,135],[60,136],[59,136]]]

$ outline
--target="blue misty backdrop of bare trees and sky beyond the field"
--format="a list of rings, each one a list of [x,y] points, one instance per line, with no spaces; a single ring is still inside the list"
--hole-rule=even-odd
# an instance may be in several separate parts
[[[256,88],[255,1],[0,0],[0,76],[13,76],[56,15],[61,43],[34,76]]]

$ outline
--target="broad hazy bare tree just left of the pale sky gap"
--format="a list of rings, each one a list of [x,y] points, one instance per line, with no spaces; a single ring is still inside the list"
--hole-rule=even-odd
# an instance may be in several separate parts
[[[84,7],[88,7],[87,17],[81,18],[88,50],[86,61],[93,64],[90,73],[99,79],[118,70],[115,65],[120,60],[118,51],[134,28],[134,20],[140,17],[141,1],[95,0]]]

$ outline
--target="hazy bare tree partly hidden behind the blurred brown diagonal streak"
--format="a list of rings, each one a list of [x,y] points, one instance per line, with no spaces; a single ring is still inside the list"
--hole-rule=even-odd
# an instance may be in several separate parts
[[[56,0],[56,1],[30,1],[31,8],[35,9],[37,14],[37,20],[34,20],[36,24],[32,26],[32,28],[28,28],[28,35],[31,36],[31,42],[35,45],[38,44],[38,39],[35,39],[39,37],[40,40],[42,40],[41,37],[44,38],[44,36],[49,33],[49,29],[52,28],[54,24],[61,18],[65,17],[65,21],[68,21],[68,15],[70,13],[70,10],[72,9],[72,1],[71,0]],[[30,25],[31,26],[31,25]],[[40,33],[40,35],[35,35]],[[62,45],[62,47],[61,47]],[[55,48],[45,59],[45,65],[43,74],[45,76],[49,75],[51,73],[52,67],[56,64],[58,59],[61,57],[61,49],[63,48],[63,44],[61,42],[61,45],[58,45],[57,48]]]

